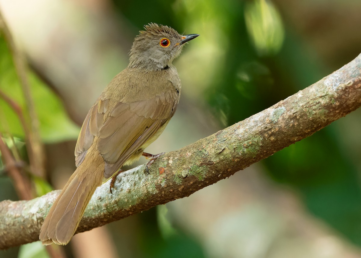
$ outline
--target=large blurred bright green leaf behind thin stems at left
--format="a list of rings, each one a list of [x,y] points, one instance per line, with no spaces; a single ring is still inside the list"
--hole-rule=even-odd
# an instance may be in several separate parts
[[[28,72],[32,98],[40,122],[40,137],[45,143],[76,139],[80,128],[65,112],[60,98],[33,72]],[[12,55],[0,35],[0,90],[25,110],[25,100],[13,65]],[[17,114],[0,99],[0,131],[24,138]]]

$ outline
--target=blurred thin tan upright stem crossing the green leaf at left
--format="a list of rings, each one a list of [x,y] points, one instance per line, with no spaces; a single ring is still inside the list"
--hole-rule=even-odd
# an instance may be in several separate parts
[[[34,102],[31,97],[30,84],[27,78],[26,61],[23,53],[17,48],[14,39],[10,33],[9,27],[6,25],[3,14],[0,10],[0,29],[4,33],[6,42],[9,45],[10,51],[12,52],[13,61],[16,73],[20,80],[20,85],[25,97],[26,110],[29,111],[28,115],[30,122],[30,130],[26,130],[27,126],[24,127],[26,138],[29,140],[30,146],[27,147],[30,167],[32,173],[39,177],[44,177],[44,150],[39,135],[39,120],[35,112]],[[17,111],[17,109],[15,109]],[[17,112],[18,113],[18,112]],[[20,117],[21,118],[21,117]],[[22,117],[23,118],[23,117]],[[27,117],[26,117],[27,118]],[[22,120],[23,125],[25,124],[24,119]],[[30,151],[29,151],[30,150]]]

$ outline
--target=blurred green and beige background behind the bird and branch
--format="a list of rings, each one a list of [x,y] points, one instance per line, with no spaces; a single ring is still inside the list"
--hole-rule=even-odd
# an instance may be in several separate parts
[[[1,98],[0,132],[36,194],[51,189],[45,181],[61,189],[74,171],[80,125],[127,66],[144,24],[200,34],[174,61],[181,100],[150,153],[176,150],[260,112],[361,52],[356,0],[0,0],[0,8],[29,64],[45,180],[26,169],[23,129]],[[26,111],[3,34],[0,90]],[[0,200],[17,200],[0,166]],[[190,197],[78,234],[64,252],[77,258],[361,257],[360,175],[357,110]],[[35,242],[0,257],[48,254]]]

